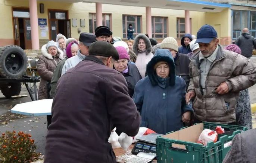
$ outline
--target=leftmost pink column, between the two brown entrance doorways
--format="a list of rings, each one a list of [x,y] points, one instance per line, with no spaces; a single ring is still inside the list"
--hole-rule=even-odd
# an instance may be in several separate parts
[[[32,49],[39,49],[37,0],[29,0]]]

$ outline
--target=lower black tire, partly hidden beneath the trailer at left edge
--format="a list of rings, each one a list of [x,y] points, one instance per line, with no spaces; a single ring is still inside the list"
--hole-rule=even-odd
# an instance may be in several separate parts
[[[0,89],[6,98],[11,98],[21,93],[21,83],[1,84]]]

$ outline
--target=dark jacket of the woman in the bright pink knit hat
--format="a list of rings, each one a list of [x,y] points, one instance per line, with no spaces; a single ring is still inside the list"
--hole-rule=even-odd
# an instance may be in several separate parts
[[[124,77],[128,84],[128,93],[130,97],[132,97],[135,85],[139,80],[142,79],[140,72],[135,64],[128,63],[128,73],[125,73]]]

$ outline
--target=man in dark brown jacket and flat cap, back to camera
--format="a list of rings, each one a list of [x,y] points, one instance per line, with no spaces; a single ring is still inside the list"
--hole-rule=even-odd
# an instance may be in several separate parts
[[[44,163],[116,163],[108,138],[135,136],[141,117],[124,76],[113,69],[115,47],[97,41],[89,55],[58,81]]]

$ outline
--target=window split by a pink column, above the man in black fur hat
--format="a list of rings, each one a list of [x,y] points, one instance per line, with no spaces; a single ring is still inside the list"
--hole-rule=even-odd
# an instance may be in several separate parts
[[[102,14],[102,25],[108,26],[112,30],[111,14]],[[89,13],[89,32],[94,33],[96,28],[96,13]]]

